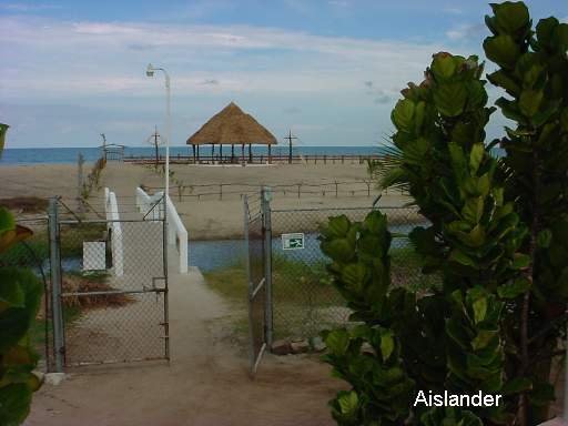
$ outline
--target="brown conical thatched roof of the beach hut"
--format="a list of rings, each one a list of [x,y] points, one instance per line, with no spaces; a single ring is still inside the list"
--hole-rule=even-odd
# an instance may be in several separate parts
[[[277,142],[266,128],[234,102],[213,115],[186,142],[189,145],[248,143],[275,145]]]

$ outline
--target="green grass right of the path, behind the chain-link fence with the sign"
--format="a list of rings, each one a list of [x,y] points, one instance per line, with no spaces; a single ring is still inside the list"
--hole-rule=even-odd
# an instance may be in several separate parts
[[[390,248],[392,285],[426,293],[440,285],[438,275],[423,275],[420,256],[414,247]],[[286,255],[273,255],[272,291],[275,338],[310,337],[324,328],[345,325],[349,311],[326,271],[327,260],[307,263]],[[254,265],[253,265],[254,267]],[[207,285],[242,310],[234,320],[234,333],[247,333],[248,283],[243,261],[203,274]]]

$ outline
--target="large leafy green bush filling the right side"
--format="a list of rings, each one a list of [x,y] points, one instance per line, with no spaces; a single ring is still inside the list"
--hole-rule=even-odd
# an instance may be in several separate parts
[[[438,274],[442,288],[423,297],[389,288],[386,219],[373,243],[365,231],[378,213],[354,224],[331,219],[321,245],[352,320],[379,335],[387,331],[396,343],[392,355],[399,358],[390,365],[414,384],[397,400],[414,399],[417,389],[448,389],[501,394],[505,404],[464,412],[384,404],[388,390],[369,388],[361,351],[337,354],[333,342],[339,334],[366,342],[361,347],[373,347],[378,358],[368,363],[374,372],[383,365],[381,351],[368,334],[336,331],[324,335],[332,343],[326,361],[352,385],[332,402],[339,424],[536,425],[548,418],[550,368],[567,318],[568,26],[548,18],[532,31],[524,3],[491,8],[493,36],[484,48],[500,68],[488,80],[506,90],[509,98],[496,104],[517,128],[488,143],[485,126],[496,108],[487,106],[483,64],[437,53],[425,80],[402,91],[392,113],[396,156],[382,164],[382,186],[406,186],[429,223],[409,240],[423,273]],[[503,159],[491,154],[497,143]]]

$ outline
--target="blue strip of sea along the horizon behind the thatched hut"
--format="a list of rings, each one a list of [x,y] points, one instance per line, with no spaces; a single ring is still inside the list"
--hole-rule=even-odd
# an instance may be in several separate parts
[[[371,155],[379,154],[384,148],[376,146],[294,146],[293,154],[302,155]],[[161,155],[165,150],[160,149]],[[285,145],[277,145],[272,148],[273,155],[286,155],[288,148]],[[7,148],[0,159],[0,166],[14,165],[14,164],[39,164],[39,163],[77,163],[79,154],[88,162],[94,162],[101,156],[99,148]],[[211,153],[210,146],[202,146],[200,153],[209,155]],[[215,153],[219,154],[219,148],[215,148]],[[223,154],[231,153],[231,146],[223,148]],[[235,155],[240,155],[241,146],[235,146]],[[253,146],[253,153],[257,155],[266,155],[266,146]],[[191,146],[171,146],[170,156],[176,155],[192,155]],[[245,149],[245,155],[248,154],[248,148]],[[154,156],[154,149],[152,146],[125,146],[124,156]]]

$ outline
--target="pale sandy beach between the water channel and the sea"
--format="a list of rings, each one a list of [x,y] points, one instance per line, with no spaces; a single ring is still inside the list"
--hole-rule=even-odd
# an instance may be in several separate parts
[[[91,168],[84,164],[85,175]],[[170,196],[193,240],[242,237],[243,194],[250,196],[255,209],[263,185],[273,189],[273,209],[365,207],[379,194],[368,181],[364,164],[174,164],[171,170]],[[1,166],[0,181],[0,199],[58,195],[71,209],[77,207],[74,164]],[[109,162],[88,202],[93,211],[103,212],[103,187],[108,186],[116,193],[120,210],[128,214],[135,210],[136,186],[154,192],[163,187],[163,181],[153,166]],[[379,205],[400,206],[407,202],[408,197],[390,191],[383,194]]]

